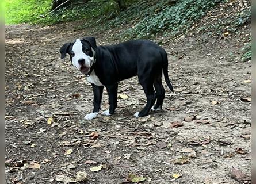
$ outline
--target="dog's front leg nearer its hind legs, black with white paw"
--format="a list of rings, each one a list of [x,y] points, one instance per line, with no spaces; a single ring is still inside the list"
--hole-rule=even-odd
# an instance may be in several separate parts
[[[106,86],[106,91],[108,91],[109,96],[109,110],[105,110],[101,114],[110,116],[114,113],[114,110],[117,108],[117,87],[118,84]]]

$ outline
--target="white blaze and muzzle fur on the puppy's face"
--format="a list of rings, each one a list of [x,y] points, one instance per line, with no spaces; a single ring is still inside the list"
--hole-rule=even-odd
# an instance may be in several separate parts
[[[75,40],[72,51],[75,53],[75,56],[72,57],[72,64],[77,70],[80,71],[81,69],[81,65],[78,63],[79,59],[85,59],[85,67],[91,67],[91,64],[93,64],[93,57],[90,57],[83,52],[83,44],[80,39]]]

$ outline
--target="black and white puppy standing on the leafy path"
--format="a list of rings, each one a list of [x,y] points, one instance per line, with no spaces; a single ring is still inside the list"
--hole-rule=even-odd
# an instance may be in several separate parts
[[[109,110],[101,114],[112,115],[117,108],[118,82],[132,76],[138,76],[147,97],[146,106],[134,114],[136,117],[147,116],[150,110],[162,109],[165,98],[162,73],[167,86],[173,91],[168,76],[167,53],[152,41],[132,40],[116,45],[97,46],[94,37],[83,37],[64,44],[60,53],[61,59],[68,53],[74,67],[85,74],[87,81],[93,86],[94,108],[92,113],[85,116],[86,120],[97,117],[104,86],[109,96]]]

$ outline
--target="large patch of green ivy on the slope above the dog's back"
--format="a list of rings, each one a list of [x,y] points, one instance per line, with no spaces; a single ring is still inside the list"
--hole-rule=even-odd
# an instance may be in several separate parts
[[[224,0],[182,0],[167,6],[159,13],[150,13],[133,28],[123,33],[124,37],[147,38],[156,33],[171,32],[177,34],[188,30],[194,21],[205,16]]]

